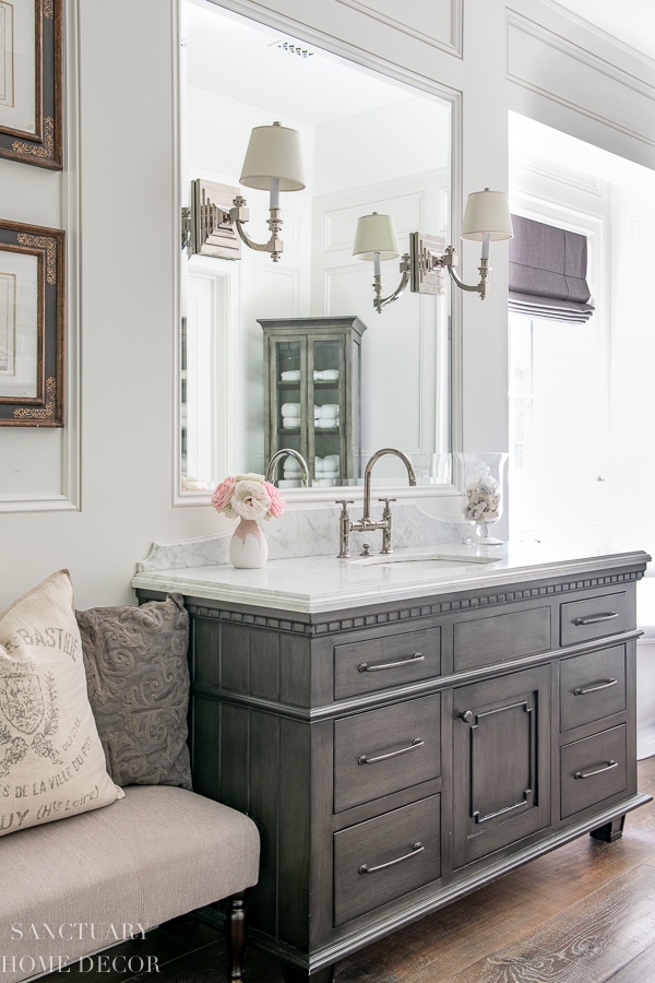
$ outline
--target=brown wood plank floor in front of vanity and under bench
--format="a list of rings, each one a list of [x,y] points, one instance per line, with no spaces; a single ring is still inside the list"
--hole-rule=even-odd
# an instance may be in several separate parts
[[[655,795],[655,757],[640,762]],[[117,952],[147,963],[159,983],[225,978],[225,949],[205,925],[158,928]],[[139,963],[136,963],[139,964]],[[274,959],[249,949],[246,983],[282,983]],[[74,981],[70,974],[71,983]],[[152,974],[84,972],[88,983]],[[61,978],[48,976],[48,983]],[[655,804],[626,820],[623,838],[590,837],[539,857],[476,893],[341,962],[335,983],[655,983]],[[81,983],[81,981],[79,981]]]

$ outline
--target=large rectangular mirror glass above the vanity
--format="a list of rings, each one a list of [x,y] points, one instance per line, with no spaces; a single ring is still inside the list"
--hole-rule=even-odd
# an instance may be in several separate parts
[[[407,269],[451,240],[450,103],[210,0],[181,7],[182,492],[265,473],[284,447],[312,486],[361,484],[381,447],[448,483],[450,288],[418,293]],[[369,253],[374,213],[389,246]],[[277,476],[300,487],[291,458]],[[376,481],[404,484],[402,463]]]

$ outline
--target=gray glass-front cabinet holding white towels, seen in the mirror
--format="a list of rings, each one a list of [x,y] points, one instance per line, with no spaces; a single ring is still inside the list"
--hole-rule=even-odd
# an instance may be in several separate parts
[[[259,323],[264,332],[266,460],[290,447],[306,459],[312,481],[326,485],[356,481],[360,476],[366,324],[356,317]],[[281,477],[294,479],[295,466],[287,463]]]

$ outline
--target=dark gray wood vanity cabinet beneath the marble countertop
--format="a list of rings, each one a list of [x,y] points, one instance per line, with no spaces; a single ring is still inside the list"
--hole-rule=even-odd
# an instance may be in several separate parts
[[[194,789],[262,834],[253,941],[288,980],[583,833],[636,792],[635,555],[297,614],[188,597]],[[141,601],[160,596],[139,591]]]

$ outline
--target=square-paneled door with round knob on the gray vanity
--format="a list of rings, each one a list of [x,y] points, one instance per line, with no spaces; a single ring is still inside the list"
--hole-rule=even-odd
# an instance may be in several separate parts
[[[549,667],[454,690],[455,866],[550,824]]]

